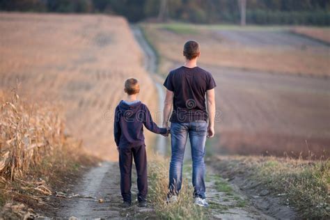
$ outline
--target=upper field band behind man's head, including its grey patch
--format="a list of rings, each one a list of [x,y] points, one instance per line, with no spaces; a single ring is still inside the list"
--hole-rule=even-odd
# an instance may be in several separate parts
[[[201,42],[201,65],[283,74],[330,76],[330,47],[290,33],[288,27],[143,24],[161,52],[159,72],[166,74],[173,61],[183,61],[182,45]]]

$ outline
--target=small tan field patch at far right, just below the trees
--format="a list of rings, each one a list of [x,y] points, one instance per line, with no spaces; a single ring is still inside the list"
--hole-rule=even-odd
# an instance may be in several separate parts
[[[298,33],[308,38],[314,38],[330,44],[330,29],[320,27],[297,26],[291,29],[293,33]]]

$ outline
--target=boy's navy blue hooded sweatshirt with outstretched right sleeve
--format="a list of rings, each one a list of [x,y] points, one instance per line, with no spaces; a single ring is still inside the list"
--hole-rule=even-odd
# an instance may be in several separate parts
[[[143,125],[156,134],[166,134],[152,121],[148,107],[142,102],[126,104],[123,100],[116,107],[113,134],[119,148],[132,148],[144,143]]]

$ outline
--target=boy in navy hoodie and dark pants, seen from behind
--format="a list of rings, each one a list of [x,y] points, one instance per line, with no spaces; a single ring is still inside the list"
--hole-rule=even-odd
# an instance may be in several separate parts
[[[136,166],[137,186],[139,189],[139,207],[146,207],[148,191],[146,145],[143,125],[156,134],[168,135],[167,128],[158,127],[145,104],[137,100],[140,91],[139,81],[134,78],[125,81],[127,99],[121,100],[116,107],[114,136],[119,152],[120,191],[124,207],[129,207],[131,200],[132,156]]]

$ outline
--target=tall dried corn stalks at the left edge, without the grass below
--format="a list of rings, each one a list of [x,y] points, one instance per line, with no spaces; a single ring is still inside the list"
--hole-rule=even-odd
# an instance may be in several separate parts
[[[63,117],[56,107],[22,102],[16,93],[1,93],[0,100],[0,173],[14,180],[54,149],[63,150]]]

